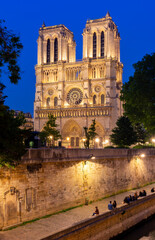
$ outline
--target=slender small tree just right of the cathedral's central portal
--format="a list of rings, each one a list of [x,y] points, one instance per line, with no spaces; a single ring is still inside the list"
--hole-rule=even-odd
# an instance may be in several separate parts
[[[88,129],[87,127],[84,127],[84,131],[85,131],[85,135],[86,135],[86,141],[84,142],[84,146],[85,148],[89,148],[89,145],[90,145],[90,140],[93,140],[97,133],[95,132],[96,131],[96,128],[95,128],[95,125],[96,125],[96,122],[95,122],[95,119],[92,120],[92,124],[90,126],[90,128]]]

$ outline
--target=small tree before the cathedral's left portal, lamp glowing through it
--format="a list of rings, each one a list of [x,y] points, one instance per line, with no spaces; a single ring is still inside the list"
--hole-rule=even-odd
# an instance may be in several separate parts
[[[56,117],[54,117],[52,114],[48,116],[48,121],[46,122],[43,130],[40,133],[40,139],[43,142],[47,142],[48,144],[51,144],[52,146],[55,145],[55,141],[57,141],[59,138],[61,138],[60,131],[56,128],[58,125],[56,124]]]

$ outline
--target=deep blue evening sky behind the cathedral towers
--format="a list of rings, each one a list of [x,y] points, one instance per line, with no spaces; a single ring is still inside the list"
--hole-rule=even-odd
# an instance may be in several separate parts
[[[38,30],[46,26],[64,24],[74,33],[77,59],[82,58],[82,32],[87,19],[104,17],[107,13],[118,26],[121,35],[121,61],[124,64],[123,82],[133,74],[132,64],[155,51],[155,0],[8,0],[1,1],[0,18],[8,29],[18,34],[24,45],[20,56],[22,78],[18,85],[7,86],[6,104],[15,110],[33,113],[35,71],[37,63]]]

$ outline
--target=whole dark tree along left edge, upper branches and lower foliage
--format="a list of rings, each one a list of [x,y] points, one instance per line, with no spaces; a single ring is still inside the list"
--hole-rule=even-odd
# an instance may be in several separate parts
[[[11,83],[18,83],[20,68],[18,57],[22,49],[19,37],[8,31],[0,21],[0,77],[2,67],[7,65]],[[15,165],[25,153],[24,139],[28,131],[21,129],[25,119],[23,114],[16,118],[14,112],[4,105],[6,96],[3,96],[5,85],[0,82],[0,166]]]

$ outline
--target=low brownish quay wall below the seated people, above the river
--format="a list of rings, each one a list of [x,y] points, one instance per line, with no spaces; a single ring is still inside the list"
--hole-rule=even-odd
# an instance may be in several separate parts
[[[76,224],[42,240],[109,240],[155,213],[155,194]]]

